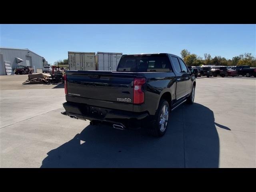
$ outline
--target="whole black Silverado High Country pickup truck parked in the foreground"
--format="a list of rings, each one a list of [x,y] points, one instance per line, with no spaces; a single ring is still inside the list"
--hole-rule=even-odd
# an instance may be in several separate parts
[[[166,132],[170,112],[194,102],[196,78],[173,54],[123,55],[116,71],[66,71],[65,112],[90,124]]]

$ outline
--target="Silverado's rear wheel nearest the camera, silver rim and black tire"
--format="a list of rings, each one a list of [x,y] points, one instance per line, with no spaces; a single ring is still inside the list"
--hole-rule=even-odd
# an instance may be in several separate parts
[[[159,102],[158,110],[155,114],[155,121],[150,126],[150,134],[152,136],[161,137],[165,134],[168,126],[169,112],[169,103],[166,100],[161,99]]]

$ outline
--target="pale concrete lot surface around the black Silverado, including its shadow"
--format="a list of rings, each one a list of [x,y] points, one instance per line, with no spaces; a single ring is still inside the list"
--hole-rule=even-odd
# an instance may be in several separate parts
[[[1,168],[255,168],[256,78],[197,78],[162,138],[62,115],[63,84],[0,76]]]

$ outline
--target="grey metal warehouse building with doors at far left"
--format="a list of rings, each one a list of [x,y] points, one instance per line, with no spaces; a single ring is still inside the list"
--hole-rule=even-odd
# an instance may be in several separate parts
[[[17,65],[42,68],[43,58],[29,49],[0,47],[0,75],[6,75],[6,68],[10,68],[8,74],[13,74]]]

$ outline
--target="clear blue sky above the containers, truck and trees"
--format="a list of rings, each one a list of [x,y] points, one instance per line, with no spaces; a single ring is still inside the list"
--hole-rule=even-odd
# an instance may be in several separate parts
[[[182,49],[230,58],[256,55],[256,25],[246,24],[1,24],[0,46],[28,48],[49,63],[68,58],[68,51],[168,52]]]

